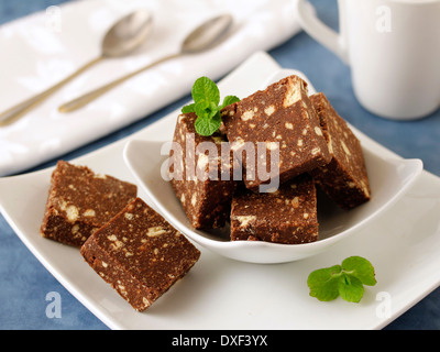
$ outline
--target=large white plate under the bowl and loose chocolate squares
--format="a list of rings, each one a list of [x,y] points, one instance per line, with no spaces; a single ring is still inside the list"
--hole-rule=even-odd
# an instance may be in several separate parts
[[[278,72],[267,54],[257,53],[219,87],[222,96],[244,97],[264,88]],[[125,143],[169,139],[177,113],[73,162],[134,183],[122,158]],[[369,148],[396,157],[355,132]],[[440,285],[440,179],[422,172],[413,188],[369,228],[322,254],[257,265],[201,248],[200,261],[189,274],[150,309],[136,312],[85,263],[77,249],[41,238],[52,170],[0,178],[1,212],[43,265],[111,329],[381,329]],[[142,188],[140,197],[150,202]],[[311,298],[308,274],[351,255],[373,263],[377,285],[366,288],[360,304]]]

